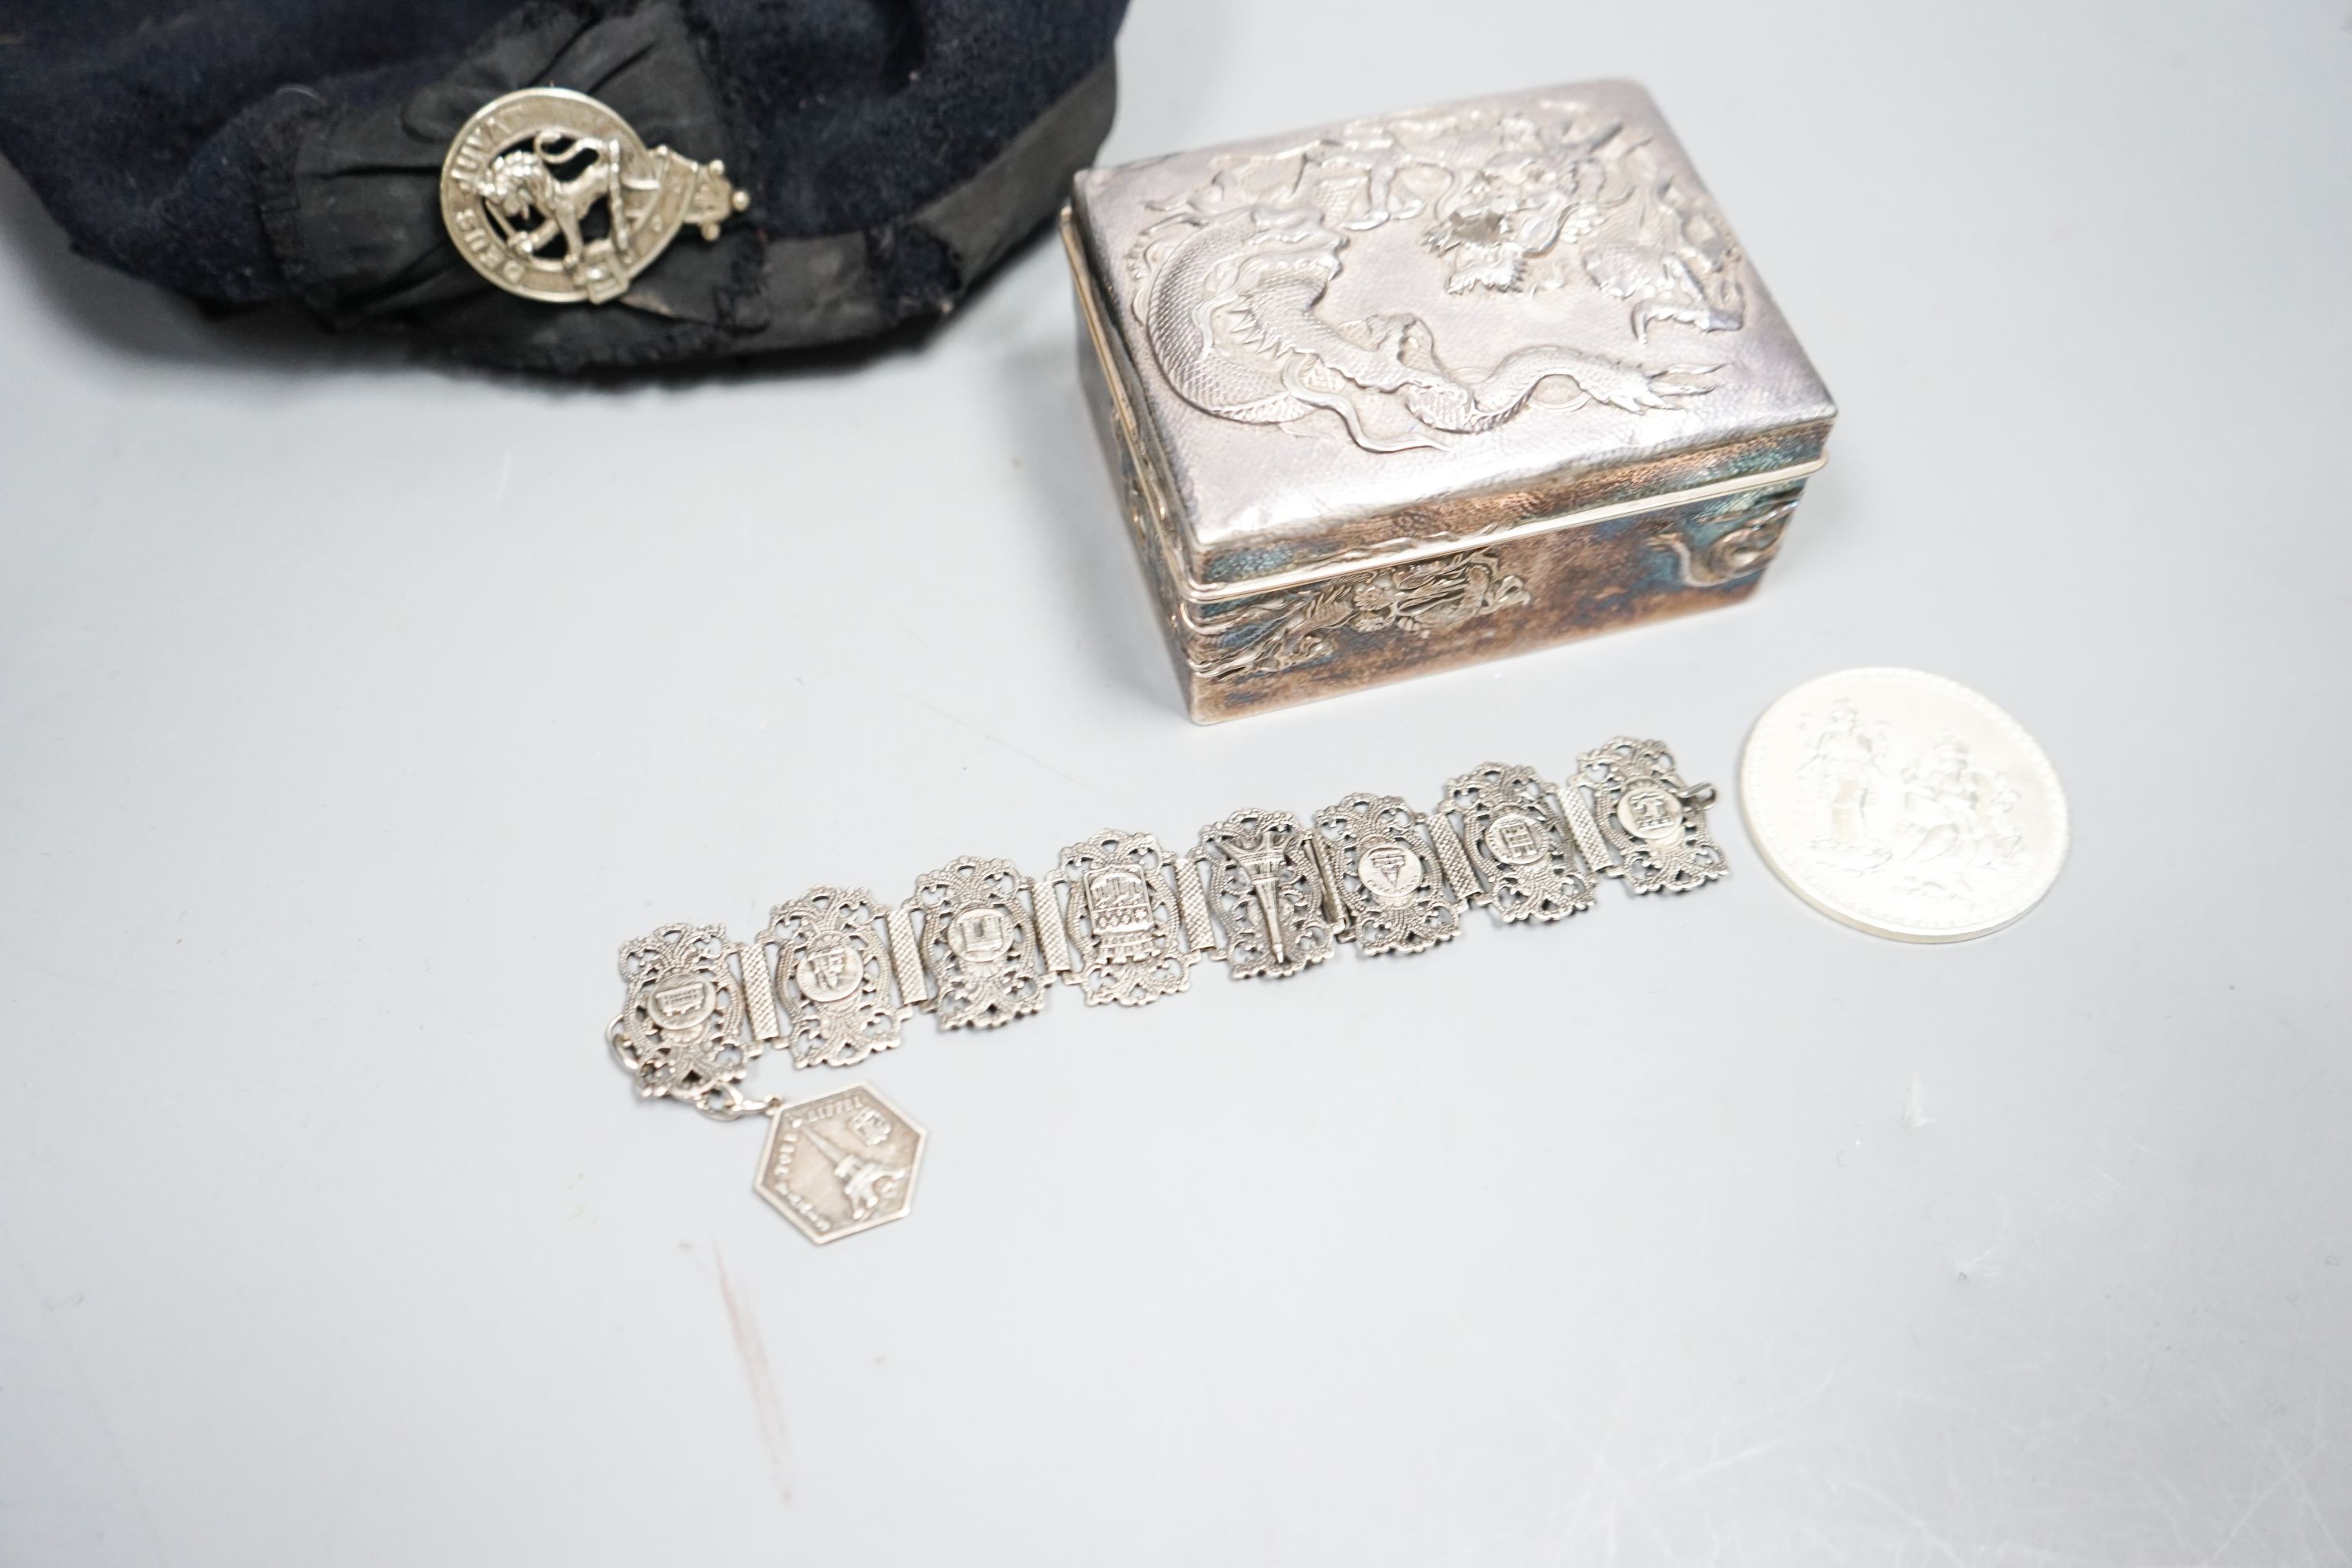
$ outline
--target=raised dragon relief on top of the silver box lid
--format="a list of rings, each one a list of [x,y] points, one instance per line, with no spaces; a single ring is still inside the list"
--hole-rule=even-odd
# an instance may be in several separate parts
[[[1715,364],[1642,364],[1529,343],[1456,369],[1411,310],[1319,313],[1348,249],[1397,226],[1446,294],[1592,287],[1630,303],[1628,350],[1656,322],[1738,331],[1745,263],[1712,200],[1649,139],[1578,103],[1357,120],[1279,153],[1232,155],[1164,202],[1127,256],[1134,310],[1169,386],[1242,423],[1322,409],[1367,451],[1449,447],[1517,418],[1550,381],[1562,411],[1679,409]]]

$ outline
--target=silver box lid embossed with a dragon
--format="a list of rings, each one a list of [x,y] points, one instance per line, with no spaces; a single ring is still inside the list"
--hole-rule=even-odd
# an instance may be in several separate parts
[[[1799,477],[1837,416],[1632,82],[1087,169],[1063,233],[1185,597]]]

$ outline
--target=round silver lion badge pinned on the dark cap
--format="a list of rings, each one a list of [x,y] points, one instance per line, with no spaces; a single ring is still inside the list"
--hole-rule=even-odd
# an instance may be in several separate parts
[[[748,205],[720,160],[647,148],[628,120],[562,87],[485,103],[440,179],[442,226],[473,270],[550,306],[621,299],[680,230],[717,240]]]

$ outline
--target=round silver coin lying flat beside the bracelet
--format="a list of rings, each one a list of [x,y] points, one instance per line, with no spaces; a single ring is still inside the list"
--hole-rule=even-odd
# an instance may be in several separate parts
[[[2065,792],[2034,738],[1919,670],[1839,670],[1766,708],[1740,811],[1790,891],[1905,943],[1999,931],[2065,863]]]

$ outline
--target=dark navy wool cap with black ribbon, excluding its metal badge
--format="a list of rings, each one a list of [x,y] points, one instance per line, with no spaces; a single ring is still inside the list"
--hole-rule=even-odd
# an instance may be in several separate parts
[[[953,306],[1063,200],[1127,0],[0,0],[0,155],[75,249],[541,371],[837,343]],[[442,221],[489,101],[564,87],[748,197],[602,306]]]

